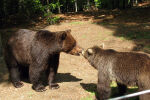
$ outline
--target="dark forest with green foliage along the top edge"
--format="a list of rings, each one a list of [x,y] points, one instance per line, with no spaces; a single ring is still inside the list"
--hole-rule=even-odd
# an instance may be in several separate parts
[[[97,8],[125,9],[132,7],[133,3],[133,0],[0,0],[0,22],[4,25],[10,22],[8,19],[29,20],[50,12],[56,14],[97,10]]]

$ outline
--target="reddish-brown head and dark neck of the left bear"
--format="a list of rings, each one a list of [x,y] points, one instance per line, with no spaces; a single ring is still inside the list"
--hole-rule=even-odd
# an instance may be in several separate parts
[[[36,41],[48,48],[50,53],[65,52],[72,55],[80,55],[81,47],[71,35],[71,30],[50,32],[40,30],[36,34]]]

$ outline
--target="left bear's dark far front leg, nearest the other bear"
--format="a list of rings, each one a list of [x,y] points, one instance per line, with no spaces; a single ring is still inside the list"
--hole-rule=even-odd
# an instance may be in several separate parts
[[[58,89],[59,85],[55,83],[55,76],[57,74],[58,66],[59,66],[59,55],[54,55],[49,61],[49,76],[48,76],[48,84],[51,89]]]

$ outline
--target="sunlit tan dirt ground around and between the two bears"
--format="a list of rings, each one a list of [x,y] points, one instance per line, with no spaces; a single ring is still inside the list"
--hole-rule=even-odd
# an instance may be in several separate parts
[[[45,29],[50,31],[61,31],[66,29],[72,30],[72,35],[77,40],[78,44],[83,48],[88,48],[93,45],[101,45],[104,43],[104,48],[112,48],[117,51],[132,51],[135,47],[138,49],[138,44],[144,46],[149,46],[150,42],[147,43],[148,39],[128,39],[123,36],[117,36],[118,32],[128,32],[134,25],[145,25],[144,23],[138,22],[128,22],[126,25],[130,24],[128,27],[123,26],[119,30],[118,26],[120,23],[106,25],[106,23],[101,22],[99,19],[92,19],[91,16],[80,15],[78,20],[75,17],[72,21],[64,21],[59,25],[46,26]],[[80,17],[78,16],[78,18]],[[100,16],[105,16],[101,14]],[[106,15],[107,16],[107,15]],[[66,18],[69,18],[66,17]],[[109,20],[111,18],[108,15]],[[95,23],[97,21],[101,24]],[[116,19],[115,19],[116,20]],[[113,21],[111,21],[114,23]],[[120,21],[121,22],[121,21]],[[149,21],[147,21],[149,23]],[[138,24],[137,24],[138,23]],[[150,24],[150,23],[149,23]],[[146,24],[140,28],[146,29],[144,31],[150,31],[150,25]],[[38,26],[37,26],[38,28]],[[118,31],[119,30],[119,31]],[[135,32],[135,30],[131,30]],[[140,48],[141,49],[141,48]],[[146,47],[142,50],[147,50]],[[89,65],[89,63],[82,56],[72,56],[69,54],[61,53],[60,64],[56,82],[60,85],[57,90],[50,90],[46,86],[47,91],[45,92],[35,92],[31,89],[31,84],[23,82],[24,86],[22,88],[14,88],[12,84],[8,81],[8,71],[4,65],[4,62],[0,60],[0,100],[94,100],[94,95],[96,91],[97,83],[97,71]]]

